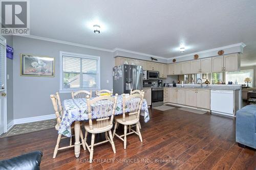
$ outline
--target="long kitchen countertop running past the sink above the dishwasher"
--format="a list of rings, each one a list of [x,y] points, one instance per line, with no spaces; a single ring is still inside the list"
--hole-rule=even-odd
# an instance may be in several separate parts
[[[203,84],[203,87],[201,87],[200,84],[184,84],[184,87],[181,87],[181,84],[177,84],[177,87],[143,87],[145,88],[192,88],[192,89],[214,89],[214,90],[241,90],[241,85],[208,85],[206,88],[206,85]]]

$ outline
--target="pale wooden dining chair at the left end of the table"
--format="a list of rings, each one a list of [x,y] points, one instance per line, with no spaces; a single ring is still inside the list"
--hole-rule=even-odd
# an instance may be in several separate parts
[[[50,98],[52,100],[53,109],[55,111],[55,115],[56,115],[56,119],[57,119],[57,124],[55,125],[55,129],[58,131],[59,127],[60,127],[60,123],[61,123],[61,117],[63,116],[63,110],[62,110],[62,106],[61,106],[61,102],[60,102],[60,98],[59,98],[59,93],[56,92],[55,95],[51,94]],[[71,130],[73,130],[73,129],[74,129],[74,124],[71,125]],[[56,143],[56,146],[55,146],[55,149],[54,149],[54,152],[53,152],[53,158],[56,158],[58,150],[63,150],[63,149],[74,147],[74,144],[72,144],[72,136],[73,136],[72,135],[70,137],[69,146],[59,148],[60,139],[67,138],[67,136],[64,136],[64,137],[61,137],[61,136],[62,136],[61,134],[58,134],[57,143]],[[83,149],[86,150],[86,144],[84,143],[82,130],[80,130],[80,138],[81,138],[81,141],[82,141],[81,144],[83,146]]]

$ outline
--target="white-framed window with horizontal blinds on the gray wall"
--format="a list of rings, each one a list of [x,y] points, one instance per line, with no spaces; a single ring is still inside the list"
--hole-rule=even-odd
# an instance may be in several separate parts
[[[100,58],[60,52],[60,90],[100,89]]]

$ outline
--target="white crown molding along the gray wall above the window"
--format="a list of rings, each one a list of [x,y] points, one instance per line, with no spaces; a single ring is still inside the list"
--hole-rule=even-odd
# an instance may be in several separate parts
[[[105,51],[105,52],[112,52],[112,53],[114,52],[113,50],[109,50],[106,48],[100,48],[100,47],[90,46],[90,45],[83,45],[83,44],[78,44],[78,43],[69,42],[69,41],[61,41],[61,40],[52,39],[52,38],[39,37],[39,36],[35,36],[35,35],[16,35],[16,36],[39,39],[39,40],[56,42],[56,43],[61,43],[61,44],[73,45],[73,46],[79,46],[79,47],[84,47],[84,48],[91,48],[94,50],[100,50],[100,51]]]

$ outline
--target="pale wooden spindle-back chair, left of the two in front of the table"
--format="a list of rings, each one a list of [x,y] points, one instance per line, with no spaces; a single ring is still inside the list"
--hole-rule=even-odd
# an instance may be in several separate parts
[[[116,153],[111,129],[113,127],[113,119],[116,109],[117,96],[118,94],[115,95],[115,98],[113,98],[113,96],[106,95],[98,96],[97,98],[90,100],[90,96],[87,95],[87,111],[89,122],[84,124],[84,129],[86,129],[84,141],[86,143],[86,147],[90,152],[90,163],[92,163],[93,160],[93,148],[95,145],[109,141],[112,145],[113,152]],[[92,117],[92,109],[94,111],[94,116],[97,117],[96,119],[93,119]],[[102,132],[105,132],[106,140],[94,143],[95,134]],[[88,133],[92,133],[91,145],[89,145],[86,140]]]

